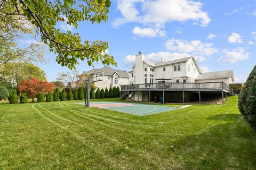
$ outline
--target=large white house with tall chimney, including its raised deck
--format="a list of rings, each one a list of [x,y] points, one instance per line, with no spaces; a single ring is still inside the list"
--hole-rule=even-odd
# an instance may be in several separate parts
[[[129,84],[122,86],[121,98],[131,96],[137,101],[189,101],[193,96],[201,101],[202,94],[232,94],[229,84],[234,82],[232,70],[202,73],[194,56],[153,63],[144,60],[141,53],[129,71]],[[199,95],[198,95],[199,94]]]

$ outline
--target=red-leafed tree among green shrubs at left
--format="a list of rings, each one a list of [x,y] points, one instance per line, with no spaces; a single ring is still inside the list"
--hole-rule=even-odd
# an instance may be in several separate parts
[[[55,87],[54,83],[49,83],[47,81],[40,81],[36,78],[30,78],[27,80],[22,80],[19,86],[19,91],[21,92],[27,92],[28,97],[32,99],[32,102],[34,102],[34,99],[36,98],[37,94],[39,92],[49,92],[53,91]]]

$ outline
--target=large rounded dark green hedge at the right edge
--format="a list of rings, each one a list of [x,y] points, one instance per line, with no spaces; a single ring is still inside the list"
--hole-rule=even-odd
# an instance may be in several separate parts
[[[245,120],[256,131],[256,65],[239,93],[238,107]]]

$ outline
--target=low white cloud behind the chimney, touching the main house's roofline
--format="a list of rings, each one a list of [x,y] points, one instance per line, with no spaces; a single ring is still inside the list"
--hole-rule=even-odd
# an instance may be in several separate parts
[[[158,52],[158,53],[150,53],[148,55],[145,55],[145,60],[148,60],[150,62],[160,62],[161,57],[163,58],[163,61],[170,61],[170,60],[176,60],[183,57],[190,56],[187,53],[171,53],[169,51],[166,52]],[[124,59],[125,63],[127,64],[133,64],[135,63],[135,55],[127,55]]]

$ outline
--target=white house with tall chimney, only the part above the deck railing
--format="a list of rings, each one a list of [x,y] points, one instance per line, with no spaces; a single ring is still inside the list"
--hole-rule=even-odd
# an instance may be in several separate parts
[[[132,71],[129,71],[130,84],[177,82],[202,83],[234,82],[232,70],[202,73],[194,56],[167,62],[152,63],[146,61],[140,53],[135,57]]]

